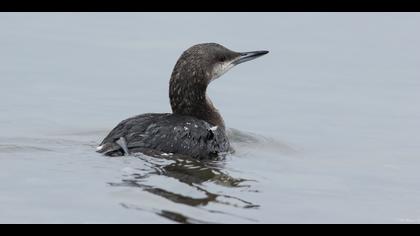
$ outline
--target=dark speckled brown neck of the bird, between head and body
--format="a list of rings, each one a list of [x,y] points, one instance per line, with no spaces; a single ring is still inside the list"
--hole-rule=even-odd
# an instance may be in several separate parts
[[[207,84],[187,84],[181,78],[171,78],[169,99],[174,114],[192,116],[225,128],[222,116],[207,96]]]

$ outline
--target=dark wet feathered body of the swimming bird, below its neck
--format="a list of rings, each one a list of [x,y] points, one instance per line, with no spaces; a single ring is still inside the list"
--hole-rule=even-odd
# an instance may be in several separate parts
[[[98,147],[109,156],[155,150],[212,158],[230,150],[225,130],[204,120],[176,114],[148,113],[118,124]]]

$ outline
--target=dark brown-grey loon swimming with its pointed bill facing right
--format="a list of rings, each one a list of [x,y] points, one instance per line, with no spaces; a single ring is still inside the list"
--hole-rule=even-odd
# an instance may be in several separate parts
[[[170,78],[172,113],[147,113],[122,121],[97,152],[107,156],[158,152],[197,159],[230,152],[224,120],[207,96],[207,87],[234,66],[267,53],[235,52],[217,43],[190,47],[176,62]]]

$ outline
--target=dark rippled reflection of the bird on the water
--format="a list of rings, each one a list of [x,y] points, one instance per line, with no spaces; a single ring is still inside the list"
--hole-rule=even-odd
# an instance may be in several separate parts
[[[223,204],[224,206],[255,209],[259,206],[249,201],[245,201],[238,197],[228,194],[214,193],[206,189],[204,183],[214,183],[218,186],[228,188],[249,189],[251,180],[234,178],[223,170],[223,160],[203,161],[188,158],[186,156],[178,156],[162,153],[147,153],[146,155],[136,155],[144,163],[144,167],[136,169],[133,173],[124,176],[120,183],[110,183],[111,186],[136,187],[154,195],[163,197],[173,203],[184,204],[192,207],[205,209],[210,203]],[[155,175],[163,175],[173,178],[189,187],[204,194],[204,197],[195,198],[183,194],[175,193],[165,189],[166,186],[153,186],[148,184],[149,177]],[[129,209],[144,210],[138,206],[122,204],[123,207]],[[210,213],[219,213],[231,215],[226,212],[208,210]],[[154,213],[179,223],[206,223],[198,219],[192,219],[181,213],[169,210],[153,210]],[[232,215],[233,216],[233,215]],[[243,217],[242,217],[243,218]],[[245,218],[243,218],[245,219]],[[252,219],[247,219],[252,220]],[[208,223],[208,222],[207,222]]]

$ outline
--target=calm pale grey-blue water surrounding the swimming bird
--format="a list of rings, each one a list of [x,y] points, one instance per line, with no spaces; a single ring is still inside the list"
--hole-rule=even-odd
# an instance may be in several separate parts
[[[0,13],[1,223],[420,223],[418,13]],[[209,88],[237,153],[106,158],[169,112],[179,55],[269,50]]]

